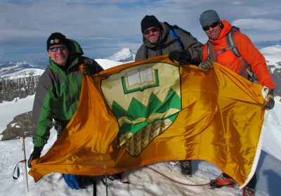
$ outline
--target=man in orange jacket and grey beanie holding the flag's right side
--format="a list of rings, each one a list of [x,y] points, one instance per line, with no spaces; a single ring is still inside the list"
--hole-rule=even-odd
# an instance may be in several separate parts
[[[275,84],[268,71],[266,59],[251,43],[249,37],[238,31],[233,34],[233,41],[241,55],[239,58],[228,46],[227,36],[233,30],[230,22],[221,20],[216,11],[208,10],[200,15],[200,24],[209,37],[209,41],[203,47],[203,61],[199,65],[200,69],[208,71],[214,66],[213,62],[215,61],[251,81],[256,79],[259,84],[268,88],[267,103],[263,105],[263,108],[265,110],[272,109],[275,104],[273,95]],[[233,179],[227,174],[223,174],[221,178],[211,182],[215,188],[221,188],[224,185],[234,186]],[[243,189],[243,195],[254,195],[255,186],[256,174]]]

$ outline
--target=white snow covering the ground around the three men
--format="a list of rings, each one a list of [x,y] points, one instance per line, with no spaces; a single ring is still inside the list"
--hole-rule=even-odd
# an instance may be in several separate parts
[[[98,60],[103,67],[112,67],[120,65],[119,62],[112,60]],[[6,129],[6,124],[12,121],[15,115],[32,110],[34,96],[27,96],[24,99],[13,100],[11,102],[0,103],[0,133]],[[256,168],[258,182],[256,184],[256,196],[277,196],[280,195],[281,181],[281,98],[275,97],[275,107],[269,111],[266,122],[266,131],[263,139],[263,146],[259,164]],[[51,136],[48,143],[44,146],[42,155],[44,155],[56,140],[56,133],[51,129]],[[33,150],[32,138],[25,138],[25,155],[27,159]],[[19,164],[20,177],[14,180],[13,170],[15,165],[21,160],[20,141],[18,139],[11,141],[0,141],[0,196],[18,196],[25,195],[25,186],[23,182],[22,165]],[[208,185],[214,178],[221,174],[217,166],[209,162],[200,160],[192,161],[192,177],[185,177],[181,174],[177,162],[159,162],[151,164],[148,167],[142,166],[124,172],[123,181],[129,181],[124,184],[119,181],[108,181],[108,195],[209,195],[209,196],[235,196],[241,195],[242,190],[236,185],[234,188],[210,189]],[[159,171],[169,178],[157,174],[152,169]],[[27,172],[29,169],[27,169]],[[16,176],[16,175],[15,175]],[[93,195],[93,186],[86,189],[72,190],[69,188],[61,174],[52,173],[44,176],[37,183],[31,176],[28,179],[28,196],[84,196]],[[176,183],[174,181],[178,181]],[[181,184],[184,183],[185,185]],[[186,185],[188,184],[188,185]],[[194,186],[200,185],[200,186]],[[97,195],[106,195],[105,185],[98,181]]]

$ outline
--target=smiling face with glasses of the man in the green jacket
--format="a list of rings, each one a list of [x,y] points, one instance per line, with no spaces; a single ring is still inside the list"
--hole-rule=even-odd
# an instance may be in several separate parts
[[[65,66],[68,58],[68,49],[65,45],[55,45],[48,48],[48,55],[54,63],[60,66]]]

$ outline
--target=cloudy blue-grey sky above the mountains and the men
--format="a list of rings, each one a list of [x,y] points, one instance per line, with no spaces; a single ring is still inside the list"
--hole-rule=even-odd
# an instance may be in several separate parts
[[[257,47],[281,44],[280,0],[0,0],[0,62],[47,58],[52,32],[75,39],[86,56],[108,56],[142,44],[141,20],[155,15],[207,41],[199,18],[214,9],[247,34]]]

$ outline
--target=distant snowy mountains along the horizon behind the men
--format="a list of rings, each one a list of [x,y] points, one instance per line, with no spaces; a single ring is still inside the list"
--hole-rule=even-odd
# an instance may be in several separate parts
[[[259,51],[266,58],[268,68],[275,81],[275,94],[281,96],[281,46],[269,46],[261,48]],[[135,57],[136,54],[129,48],[123,48],[113,55],[96,59],[96,61],[106,70],[110,67],[132,62]],[[18,63],[0,63],[0,103],[34,94],[37,81],[47,66],[48,58]]]

